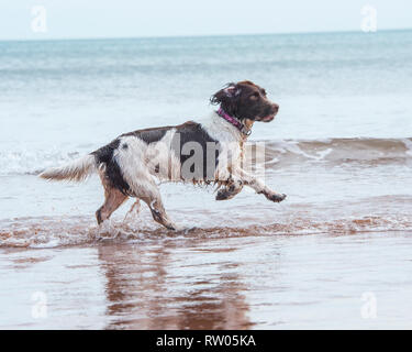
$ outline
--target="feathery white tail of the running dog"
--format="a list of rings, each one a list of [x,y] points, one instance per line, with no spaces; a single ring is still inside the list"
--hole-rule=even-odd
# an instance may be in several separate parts
[[[60,166],[52,167],[44,170],[38,176],[45,179],[67,179],[81,182],[85,180],[91,173],[97,170],[97,163],[94,155],[88,154],[79,157],[71,163]]]

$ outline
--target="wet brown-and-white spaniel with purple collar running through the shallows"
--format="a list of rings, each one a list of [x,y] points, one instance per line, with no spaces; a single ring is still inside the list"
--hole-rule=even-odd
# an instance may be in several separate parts
[[[244,145],[254,122],[272,121],[279,106],[249,80],[227,84],[210,102],[219,110],[204,122],[188,121],[125,133],[68,165],[44,170],[40,177],[81,182],[98,173],[105,197],[96,212],[99,224],[129,197],[134,197],[135,205],[140,200],[147,204],[156,222],[177,230],[166,213],[156,178],[214,184],[216,200],[232,199],[248,186],[270,201],[282,201],[286,195],[271,190],[243,168]]]

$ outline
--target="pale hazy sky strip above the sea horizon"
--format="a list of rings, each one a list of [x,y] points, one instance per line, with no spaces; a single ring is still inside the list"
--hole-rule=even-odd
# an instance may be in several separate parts
[[[0,0],[0,40],[360,31],[368,4],[412,28],[411,0]]]

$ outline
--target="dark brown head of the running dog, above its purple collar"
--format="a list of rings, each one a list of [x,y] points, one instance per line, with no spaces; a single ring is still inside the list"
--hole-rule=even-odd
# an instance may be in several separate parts
[[[229,84],[210,98],[211,103],[238,120],[269,122],[274,120],[279,106],[271,102],[266,90],[249,80]]]

